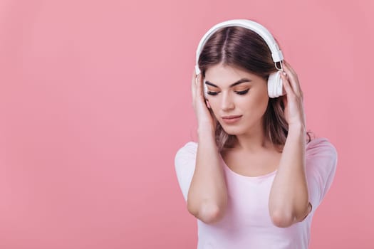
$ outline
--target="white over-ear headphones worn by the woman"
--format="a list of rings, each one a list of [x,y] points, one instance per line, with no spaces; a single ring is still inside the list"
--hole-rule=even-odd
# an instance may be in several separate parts
[[[236,20],[229,20],[224,21],[222,23],[218,23],[212,28],[207,31],[207,33],[204,34],[201,41],[199,42],[199,46],[197,46],[196,51],[196,65],[194,67],[196,75],[199,75],[200,69],[199,69],[199,56],[202,52],[202,48],[204,47],[205,43],[208,41],[208,39],[213,35],[215,31],[217,31],[219,28],[229,27],[229,26],[239,26],[243,28],[248,28],[251,31],[254,31],[261,36],[261,38],[264,39],[266,44],[269,46],[271,51],[271,58],[273,58],[275,68],[278,70],[276,73],[271,73],[269,75],[268,79],[268,94],[269,97],[279,97],[281,95],[284,95],[286,92],[283,92],[283,83],[281,79],[281,72],[283,71],[282,66],[282,60],[283,60],[283,54],[282,51],[279,50],[279,46],[274,40],[274,37],[271,36],[271,33],[261,24],[256,23],[255,21],[250,21],[246,19],[236,19]],[[279,62],[281,65],[281,68],[278,68],[276,66],[276,63]],[[204,94],[207,96],[207,85],[204,84]]]

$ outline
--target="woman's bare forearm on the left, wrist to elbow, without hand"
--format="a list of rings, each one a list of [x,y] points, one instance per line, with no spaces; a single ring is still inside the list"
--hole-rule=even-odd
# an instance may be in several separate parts
[[[221,218],[227,206],[227,186],[219,164],[214,132],[199,130],[197,159],[187,197],[187,208],[200,220],[210,223]]]

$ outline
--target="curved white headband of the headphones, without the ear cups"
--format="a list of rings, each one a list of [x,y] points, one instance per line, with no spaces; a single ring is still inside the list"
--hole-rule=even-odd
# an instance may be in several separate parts
[[[274,37],[271,36],[271,33],[264,26],[262,26],[259,23],[256,23],[255,21],[250,21],[246,19],[229,20],[229,21],[224,21],[222,23],[218,23],[214,25],[212,28],[209,29],[209,31],[207,31],[207,33],[204,34],[201,41],[199,42],[199,46],[197,46],[197,51],[196,51],[196,65],[195,65],[195,72],[197,75],[200,73],[200,69],[198,65],[199,56],[205,43],[214,34],[214,32],[217,31],[219,28],[225,28],[229,26],[240,26],[243,28],[248,28],[251,31],[258,33],[259,36],[261,36],[261,38],[263,38],[266,44],[269,46],[270,51],[271,51],[271,58],[273,58],[274,63],[277,63],[283,60],[282,51],[279,50],[279,46],[274,40]]]

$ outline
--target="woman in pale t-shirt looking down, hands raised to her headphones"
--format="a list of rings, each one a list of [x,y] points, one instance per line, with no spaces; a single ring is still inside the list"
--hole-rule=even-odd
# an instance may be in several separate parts
[[[241,21],[211,29],[200,42],[192,76],[198,141],[175,156],[187,209],[197,218],[197,248],[308,248],[336,149],[306,132],[298,77],[283,56],[274,66],[266,29]],[[269,97],[269,75],[278,71],[283,88]]]

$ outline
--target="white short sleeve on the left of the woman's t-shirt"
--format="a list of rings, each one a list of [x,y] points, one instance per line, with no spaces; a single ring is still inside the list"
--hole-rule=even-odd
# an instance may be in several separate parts
[[[192,176],[194,175],[196,154],[196,142],[187,142],[187,144],[180,148],[177,151],[177,154],[175,154],[175,172],[185,201],[187,201],[189,185],[191,184]]]

